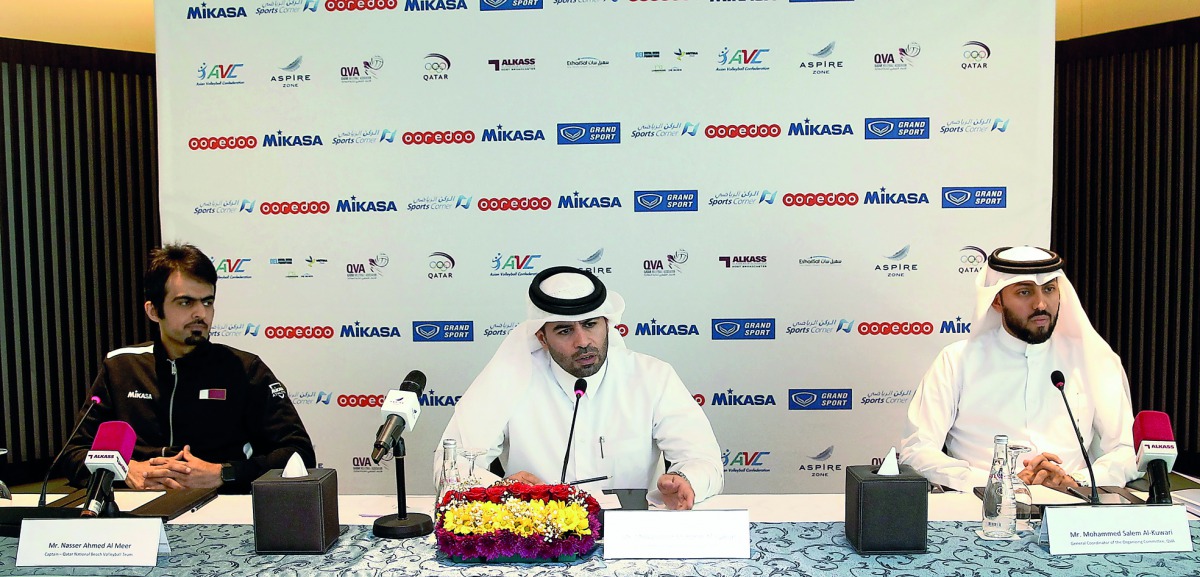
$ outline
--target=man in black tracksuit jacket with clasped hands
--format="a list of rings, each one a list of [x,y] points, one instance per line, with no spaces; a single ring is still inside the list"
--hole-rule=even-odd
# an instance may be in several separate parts
[[[90,392],[100,404],[62,457],[72,485],[86,485],[84,457],[106,421],[126,421],[137,433],[125,481],[132,488],[248,493],[251,481],[293,453],[316,467],[312,440],[271,369],[209,342],[216,278],[191,245],[151,252],[145,311],[158,338],[104,359]]]

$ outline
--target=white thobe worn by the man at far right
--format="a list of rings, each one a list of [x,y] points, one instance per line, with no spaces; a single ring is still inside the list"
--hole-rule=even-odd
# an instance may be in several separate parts
[[[994,437],[1033,453],[1062,457],[1062,468],[1086,481],[1087,470],[1050,374],[1067,377],[1067,399],[1090,447],[1098,485],[1123,486],[1136,477],[1133,409],[1120,360],[1099,369],[1087,363],[1079,339],[1055,335],[1027,344],[995,327],[942,349],[908,404],[900,461],[932,482],[959,491],[986,485]],[[944,447],[944,451],[943,451]],[[1018,464],[1018,469],[1020,469]]]

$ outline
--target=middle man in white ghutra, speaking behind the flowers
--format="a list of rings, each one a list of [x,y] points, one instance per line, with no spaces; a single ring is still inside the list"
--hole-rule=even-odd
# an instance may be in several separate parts
[[[534,277],[526,305],[527,320],[463,393],[443,439],[486,451],[476,471],[499,458],[509,479],[557,482],[583,387],[566,482],[602,477],[581,485],[589,492],[644,487],[670,509],[720,493],[708,417],[671,365],[625,348],[620,295],[590,272],[556,266]]]

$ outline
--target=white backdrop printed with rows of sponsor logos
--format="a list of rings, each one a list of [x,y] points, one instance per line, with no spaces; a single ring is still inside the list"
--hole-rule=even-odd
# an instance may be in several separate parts
[[[431,489],[558,264],[703,402],[726,492],[840,492],[970,330],[983,253],[1049,241],[1052,2],[346,4],[155,10],[163,236],[215,259],[214,339],[343,493],[394,489],[372,404],[413,368]]]

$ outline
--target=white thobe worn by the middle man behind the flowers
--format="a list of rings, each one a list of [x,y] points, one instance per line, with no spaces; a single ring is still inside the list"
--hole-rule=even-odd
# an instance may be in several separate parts
[[[558,482],[575,407],[576,379],[545,350],[532,353],[530,361],[532,383],[521,398],[506,403],[511,409],[502,432],[481,434],[473,423],[460,421],[464,404],[493,401],[486,395],[473,396],[468,389],[442,438],[470,438],[482,445],[479,449],[488,449],[476,461],[480,464],[499,457],[509,474],[524,470],[545,482]],[[724,469],[716,437],[671,365],[611,347],[601,372],[586,380],[588,390],[580,399],[566,464],[568,482],[607,476],[581,488],[655,489],[665,456],[671,470],[686,475],[697,503],[720,493]],[[486,439],[480,440],[481,437]]]

